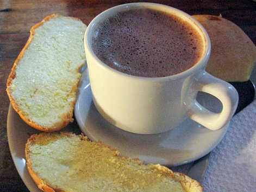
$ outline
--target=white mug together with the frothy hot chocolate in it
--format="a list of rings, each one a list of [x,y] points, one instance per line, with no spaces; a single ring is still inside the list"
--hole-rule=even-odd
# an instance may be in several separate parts
[[[92,99],[116,127],[155,134],[190,118],[210,130],[235,113],[238,93],[205,72],[210,39],[193,17],[155,3],[129,3],[96,16],[85,32]],[[219,113],[196,100],[198,92],[222,103]]]

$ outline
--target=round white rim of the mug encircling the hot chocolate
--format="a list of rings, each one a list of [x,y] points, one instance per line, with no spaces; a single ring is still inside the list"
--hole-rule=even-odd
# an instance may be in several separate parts
[[[105,21],[105,18],[108,18],[109,16],[113,15],[114,12],[117,12],[118,10],[124,10],[128,8],[133,8],[133,7],[148,7],[150,9],[154,10],[159,10],[159,11],[164,11],[164,12],[171,12],[172,14],[174,13],[177,16],[183,16],[183,20],[186,20],[190,22],[190,24],[193,26],[193,28],[196,28],[197,31],[199,29],[199,33],[202,35],[203,41],[204,41],[204,53],[202,54],[201,58],[189,69],[186,69],[185,71],[174,74],[174,75],[169,75],[169,76],[160,76],[160,77],[145,77],[145,76],[136,76],[136,75],[130,75],[127,73],[123,73],[120,71],[117,71],[114,68],[109,67],[106,65],[102,60],[100,60],[97,55],[93,52],[92,46],[91,46],[91,41],[92,41],[92,35],[93,35],[93,29],[97,27],[97,24],[102,23]],[[89,36],[90,35],[90,36]],[[89,38],[90,37],[90,38]],[[93,57],[93,59],[97,60],[97,65],[101,65],[101,67],[104,67],[106,70],[127,76],[130,78],[135,78],[135,79],[146,79],[146,80],[171,80],[171,79],[181,79],[184,78],[185,76],[189,76],[196,71],[202,69],[204,70],[207,62],[210,57],[210,52],[211,52],[211,42],[210,42],[210,37],[207,33],[207,31],[204,29],[201,23],[199,23],[195,18],[193,18],[191,15],[187,14],[186,12],[179,10],[174,7],[170,7],[168,5],[164,4],[159,4],[159,3],[126,3],[126,4],[121,4],[117,5],[115,7],[111,7],[107,10],[104,10],[101,12],[99,15],[97,15],[93,20],[89,23],[88,27],[86,28],[85,34],[84,34],[84,46],[85,48],[87,47],[88,50],[90,51],[90,55]],[[86,50],[85,50],[86,52]]]

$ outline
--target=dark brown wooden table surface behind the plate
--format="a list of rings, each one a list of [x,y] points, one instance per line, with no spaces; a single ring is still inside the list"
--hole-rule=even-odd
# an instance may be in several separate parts
[[[1,0],[0,1],[0,191],[28,191],[16,171],[7,138],[9,98],[5,92],[8,75],[13,63],[26,43],[30,28],[51,14],[73,16],[89,24],[100,12],[118,4],[139,1],[93,0]],[[208,14],[236,23],[256,44],[256,2],[232,1],[147,1],[170,5],[190,15]],[[21,127],[22,129],[22,127]]]

